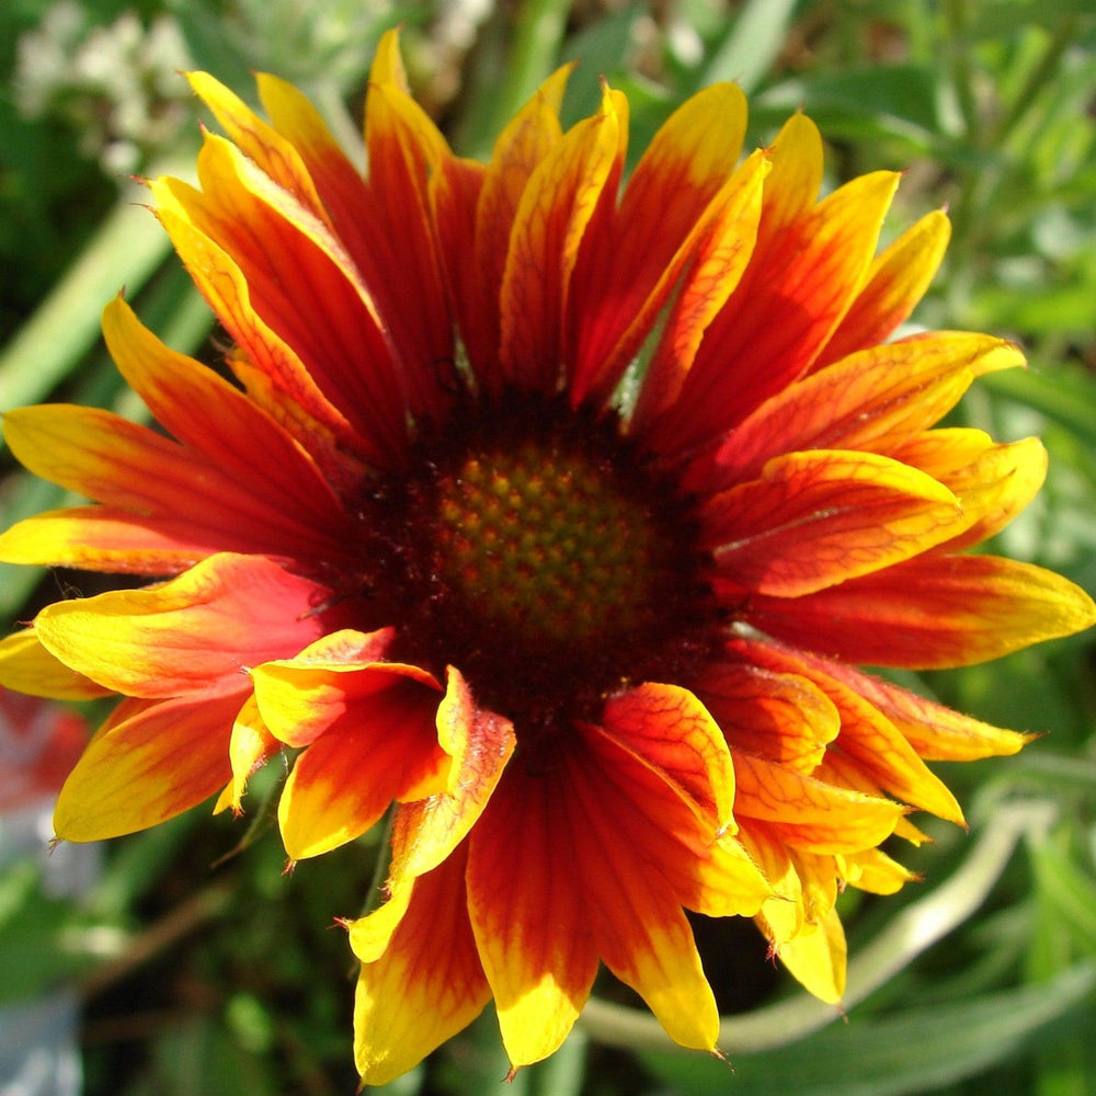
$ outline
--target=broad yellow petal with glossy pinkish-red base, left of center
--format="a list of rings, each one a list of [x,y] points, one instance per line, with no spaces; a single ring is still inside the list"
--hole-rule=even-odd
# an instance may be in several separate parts
[[[328,591],[261,557],[214,556],[178,579],[47,605],[35,630],[52,654],[106,688],[168,697],[246,685],[248,666],[323,629]]]

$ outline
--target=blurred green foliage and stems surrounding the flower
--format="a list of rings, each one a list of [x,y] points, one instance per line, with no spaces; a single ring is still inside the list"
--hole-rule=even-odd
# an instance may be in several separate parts
[[[218,359],[210,317],[132,181],[192,173],[199,117],[180,70],[208,69],[250,102],[251,71],[287,77],[353,151],[374,46],[400,22],[414,91],[466,155],[488,155],[544,77],[578,59],[567,119],[593,107],[605,76],[631,102],[633,152],[684,98],[734,80],[751,98],[749,147],[802,109],[827,141],[827,187],[904,170],[886,237],[941,206],[955,228],[916,323],[1005,334],[1030,362],[981,380],[956,416],[1050,449],[1042,494],[993,547],[1096,590],[1092,0],[3,0],[0,409],[65,400],[140,416],[99,338],[122,286],[170,345]],[[0,461],[3,526],[64,504]],[[0,568],[4,631],[73,581]],[[1094,644],[901,675],[1046,733],[1016,758],[941,766],[971,833],[917,819],[935,843],[899,855],[924,881],[842,898],[856,977],[881,983],[847,1023],[812,1031],[751,924],[698,918],[721,1007],[746,1014],[733,1070],[595,1013],[503,1085],[489,1008],[376,1091],[1096,1092]],[[0,701],[0,1096],[353,1093],[353,979],[332,916],[359,912],[379,837],[286,875],[276,836],[255,840],[270,825],[256,781],[242,821],[199,809],[46,856],[52,798],[102,712]],[[914,918],[943,937],[911,943]],[[597,992],[627,1002],[613,984]]]

